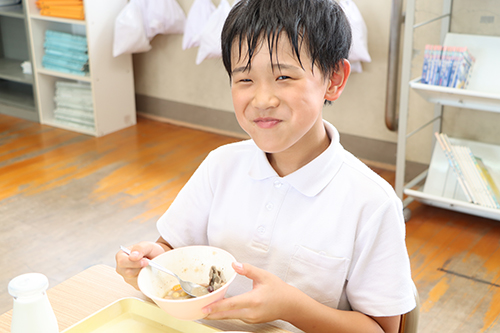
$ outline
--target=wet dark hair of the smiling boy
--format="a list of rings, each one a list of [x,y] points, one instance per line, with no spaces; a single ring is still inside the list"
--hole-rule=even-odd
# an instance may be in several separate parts
[[[323,75],[337,71],[339,62],[349,55],[351,28],[335,0],[240,0],[222,29],[222,60],[229,77],[233,44],[240,59],[248,58],[249,69],[261,43],[267,42],[273,60],[283,32],[299,63],[302,65],[300,47],[305,46],[313,66],[316,64]],[[243,43],[247,45],[246,55],[241,54]]]

